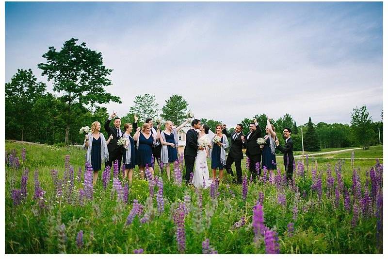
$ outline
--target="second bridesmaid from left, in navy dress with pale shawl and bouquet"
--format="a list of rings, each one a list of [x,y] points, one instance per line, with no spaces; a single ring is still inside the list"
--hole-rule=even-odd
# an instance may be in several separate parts
[[[125,133],[123,134],[123,138],[127,139],[127,144],[124,147],[125,150],[123,154],[123,164],[125,167],[124,179],[128,177],[129,184],[132,183],[133,169],[135,168],[135,164],[136,164],[135,142],[133,138],[130,136],[132,129],[133,129],[132,124],[130,123],[124,124]]]

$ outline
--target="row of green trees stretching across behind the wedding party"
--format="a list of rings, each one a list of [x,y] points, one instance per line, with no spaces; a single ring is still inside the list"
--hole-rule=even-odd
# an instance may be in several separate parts
[[[82,126],[93,121],[103,123],[109,116],[100,104],[121,103],[120,97],[106,91],[112,82],[108,76],[113,71],[103,65],[101,52],[91,50],[78,39],[65,41],[61,50],[49,47],[42,56],[46,63],[37,65],[42,76],[52,82],[55,94],[47,92],[47,85],[37,82],[31,69],[17,69],[10,82],[5,84],[5,138],[47,144],[81,144],[84,136],[79,133]],[[134,105],[129,108],[123,122],[132,122],[134,114],[139,117],[139,125],[147,118],[160,117],[179,125],[187,118],[189,104],[180,95],[174,94],[165,101],[161,112],[156,98],[152,94],[136,96]],[[266,114],[243,118],[244,134],[248,133],[249,123],[256,118],[265,134]],[[199,118],[198,118],[199,119]],[[201,118],[214,130],[222,124],[209,118]],[[236,122],[238,123],[238,122]],[[281,144],[284,142],[284,127],[292,130],[294,150],[302,150],[303,129],[304,147],[307,151],[319,151],[323,148],[341,148],[363,146],[383,142],[383,112],[381,121],[372,121],[365,105],[351,112],[351,124],[325,123],[314,124],[309,118],[303,125],[296,125],[292,116],[286,113],[273,121]],[[234,128],[229,128],[233,131]]]

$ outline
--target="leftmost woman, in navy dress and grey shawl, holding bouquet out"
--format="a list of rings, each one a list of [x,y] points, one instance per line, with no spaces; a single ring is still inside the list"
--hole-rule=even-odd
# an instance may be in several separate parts
[[[93,168],[93,185],[97,183],[98,171],[101,170],[102,160],[108,160],[108,144],[111,136],[107,141],[105,141],[104,134],[100,133],[101,124],[98,121],[92,123],[92,132],[85,135],[85,140],[83,141],[83,148],[87,149],[86,151],[86,162],[92,164]]]

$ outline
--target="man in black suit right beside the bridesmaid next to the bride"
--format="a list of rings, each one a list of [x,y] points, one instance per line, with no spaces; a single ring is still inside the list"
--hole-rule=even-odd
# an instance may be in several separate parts
[[[237,174],[237,183],[242,183],[242,169],[241,169],[241,160],[242,156],[242,139],[244,138],[244,134],[242,133],[242,124],[237,124],[233,134],[229,134],[226,131],[226,125],[224,124],[222,129],[222,133],[226,135],[226,137],[230,138],[230,148],[226,157],[226,165],[225,169],[227,173],[233,175],[232,164],[234,163],[236,167]]]

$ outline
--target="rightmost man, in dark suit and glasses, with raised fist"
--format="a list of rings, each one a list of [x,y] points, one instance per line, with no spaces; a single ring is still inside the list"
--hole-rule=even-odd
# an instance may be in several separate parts
[[[283,162],[284,162],[284,168],[286,170],[287,175],[287,182],[290,180],[292,181],[292,173],[293,173],[293,162],[294,162],[294,143],[291,139],[291,129],[290,128],[284,128],[283,129],[283,136],[286,139],[286,143],[284,147],[279,145],[279,140],[276,139],[276,148],[280,150],[283,153]]]

